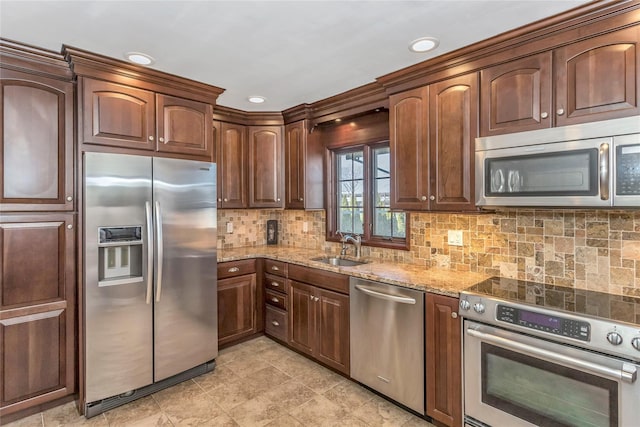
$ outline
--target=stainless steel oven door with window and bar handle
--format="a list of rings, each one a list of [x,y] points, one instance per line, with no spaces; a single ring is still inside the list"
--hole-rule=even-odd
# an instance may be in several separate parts
[[[464,322],[469,426],[637,425],[638,364]]]

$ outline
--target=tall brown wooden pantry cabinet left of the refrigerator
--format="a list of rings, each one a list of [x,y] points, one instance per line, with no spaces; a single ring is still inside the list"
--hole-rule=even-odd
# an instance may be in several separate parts
[[[0,418],[76,391],[74,85],[0,40]],[[6,418],[5,418],[6,419]]]

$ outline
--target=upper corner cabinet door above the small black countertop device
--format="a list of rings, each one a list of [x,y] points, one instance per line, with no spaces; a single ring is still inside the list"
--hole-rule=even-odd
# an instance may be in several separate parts
[[[249,207],[283,206],[282,156],[279,126],[249,127]]]

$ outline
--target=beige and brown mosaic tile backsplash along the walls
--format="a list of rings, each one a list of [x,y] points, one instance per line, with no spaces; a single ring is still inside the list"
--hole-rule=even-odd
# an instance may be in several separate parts
[[[278,221],[280,244],[340,250],[325,241],[324,211],[302,210],[219,210],[218,247],[266,244],[268,219]],[[226,233],[227,222],[233,233]],[[448,245],[448,230],[462,231],[463,246]],[[409,251],[363,247],[363,255],[640,296],[640,210],[411,213]]]

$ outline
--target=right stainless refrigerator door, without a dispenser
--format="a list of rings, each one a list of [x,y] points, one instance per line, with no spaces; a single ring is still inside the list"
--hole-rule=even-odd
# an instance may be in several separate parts
[[[218,355],[216,168],[155,158],[155,381]]]

